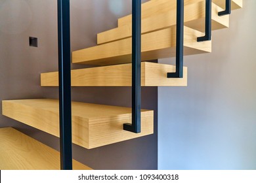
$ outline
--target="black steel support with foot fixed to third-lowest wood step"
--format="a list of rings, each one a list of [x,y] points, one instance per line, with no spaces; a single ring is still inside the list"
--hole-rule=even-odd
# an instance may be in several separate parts
[[[177,0],[176,29],[176,71],[167,73],[167,78],[183,77],[183,44],[184,44],[184,0]]]

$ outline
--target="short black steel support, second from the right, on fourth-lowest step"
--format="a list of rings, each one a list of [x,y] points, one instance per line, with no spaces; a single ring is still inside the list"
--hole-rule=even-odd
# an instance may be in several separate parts
[[[211,0],[205,0],[205,36],[198,37],[198,42],[211,40]]]

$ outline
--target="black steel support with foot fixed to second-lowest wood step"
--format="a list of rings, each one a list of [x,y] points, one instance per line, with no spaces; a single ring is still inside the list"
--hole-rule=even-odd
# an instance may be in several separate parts
[[[123,129],[140,133],[141,0],[133,0],[132,29],[132,124],[123,124]]]

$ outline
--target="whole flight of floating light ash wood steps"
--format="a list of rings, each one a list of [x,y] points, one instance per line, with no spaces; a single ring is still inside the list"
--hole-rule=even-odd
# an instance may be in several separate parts
[[[167,73],[175,72],[175,65],[152,63],[151,60],[170,58],[176,55],[176,1],[151,0],[142,4],[141,20],[141,86],[187,86],[187,68],[183,67],[182,78],[167,78]],[[232,10],[242,8],[242,0],[231,1]],[[229,15],[219,16],[225,8],[225,0],[211,3],[211,29],[228,27]],[[114,29],[98,33],[97,46],[77,50],[72,53],[72,63],[91,65],[90,68],[71,71],[72,86],[131,86],[132,76],[132,24],[131,15],[118,19]],[[205,0],[184,1],[184,55],[211,52],[211,41],[198,42],[205,35]],[[41,86],[58,86],[58,71],[41,73]],[[21,99],[3,101],[3,115],[26,125],[60,137],[59,106],[54,99]],[[131,123],[131,108],[90,103],[72,102],[72,142],[91,149],[115,142],[127,141],[150,135],[154,129],[154,111],[141,110],[141,133],[123,130],[123,124]],[[36,154],[37,149],[56,158],[58,152],[40,142],[12,129],[0,129],[0,159],[5,159],[1,169],[59,169],[54,166],[37,167],[31,161],[23,163],[9,155],[14,147],[16,157]],[[26,142],[26,147],[23,143]],[[31,146],[35,144],[35,146]],[[24,150],[23,148],[26,148]],[[28,152],[28,153],[27,153]],[[10,160],[8,160],[10,159]],[[35,159],[40,159],[35,157]],[[43,160],[42,160],[43,161]],[[75,160],[74,160],[75,161]],[[39,161],[38,161],[39,162]],[[45,161],[47,164],[48,161]],[[55,164],[59,162],[52,161]],[[76,162],[76,161],[75,161]],[[20,163],[20,164],[19,164]],[[36,164],[36,163],[35,163]],[[43,164],[43,163],[39,163]],[[10,165],[10,166],[9,166]],[[75,167],[77,166],[77,167]],[[90,169],[74,163],[74,169]]]

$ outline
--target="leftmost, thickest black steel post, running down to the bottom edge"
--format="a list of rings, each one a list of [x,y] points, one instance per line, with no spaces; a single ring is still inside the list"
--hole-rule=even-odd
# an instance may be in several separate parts
[[[60,168],[72,169],[70,0],[58,0],[58,71],[60,103]]]

